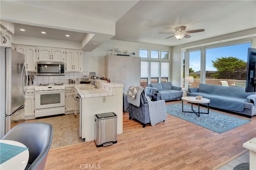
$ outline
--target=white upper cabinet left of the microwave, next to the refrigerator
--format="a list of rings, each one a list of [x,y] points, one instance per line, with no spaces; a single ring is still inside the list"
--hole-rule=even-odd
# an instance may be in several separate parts
[[[15,50],[25,55],[27,71],[36,72],[36,47],[17,45]]]

